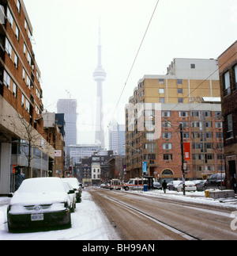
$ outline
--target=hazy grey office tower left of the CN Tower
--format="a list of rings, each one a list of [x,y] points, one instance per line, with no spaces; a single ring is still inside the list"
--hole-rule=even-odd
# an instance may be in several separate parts
[[[57,112],[64,113],[64,117],[66,120],[65,145],[69,146],[77,144],[77,100],[58,100]]]

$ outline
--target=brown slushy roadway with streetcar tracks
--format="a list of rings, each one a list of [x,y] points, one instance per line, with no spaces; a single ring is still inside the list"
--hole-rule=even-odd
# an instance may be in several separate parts
[[[90,193],[122,239],[237,239],[237,220],[230,209],[171,200],[159,192],[146,197],[92,188]]]

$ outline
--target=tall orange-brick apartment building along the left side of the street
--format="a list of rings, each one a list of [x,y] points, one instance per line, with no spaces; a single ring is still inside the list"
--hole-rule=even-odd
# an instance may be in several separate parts
[[[54,147],[43,131],[40,68],[32,50],[32,25],[22,0],[0,3],[0,194],[25,178],[47,176]]]

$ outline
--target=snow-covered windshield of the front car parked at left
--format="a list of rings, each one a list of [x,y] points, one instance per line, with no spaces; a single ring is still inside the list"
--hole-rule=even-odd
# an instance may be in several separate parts
[[[29,178],[22,182],[18,193],[62,193],[64,191],[59,178]]]

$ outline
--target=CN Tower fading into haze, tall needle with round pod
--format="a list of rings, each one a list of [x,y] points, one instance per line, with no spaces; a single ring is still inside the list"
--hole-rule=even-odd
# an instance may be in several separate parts
[[[97,82],[96,94],[96,139],[95,144],[104,148],[104,132],[103,132],[103,81],[106,79],[106,72],[101,64],[101,33],[99,28],[99,44],[98,44],[98,65],[93,73],[93,78]]]

